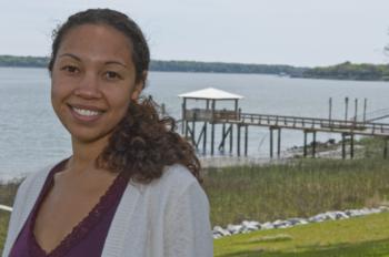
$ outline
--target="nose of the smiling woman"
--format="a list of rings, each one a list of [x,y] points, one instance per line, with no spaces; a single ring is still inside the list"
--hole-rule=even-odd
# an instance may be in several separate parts
[[[74,89],[74,94],[83,99],[99,99],[101,92],[99,90],[98,75],[91,72],[84,73]]]

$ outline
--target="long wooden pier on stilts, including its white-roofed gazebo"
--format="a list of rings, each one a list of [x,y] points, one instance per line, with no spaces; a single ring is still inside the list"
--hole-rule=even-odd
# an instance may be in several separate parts
[[[236,153],[238,156],[241,154],[248,154],[248,127],[249,126],[263,126],[269,128],[270,133],[270,147],[269,154],[272,158],[275,156],[275,147],[277,147],[277,157],[281,154],[281,131],[282,130],[297,130],[303,132],[303,156],[308,156],[308,135],[312,136],[311,156],[316,156],[317,152],[317,133],[338,133],[341,135],[342,145],[342,158],[347,157],[347,142],[349,142],[350,157],[355,156],[355,136],[376,136],[383,140],[383,157],[388,156],[388,141],[389,141],[389,124],[378,123],[371,121],[358,122],[357,119],[352,120],[333,120],[318,119],[318,117],[303,117],[303,116],[286,116],[286,115],[271,115],[271,114],[257,114],[257,113],[243,113],[238,106],[238,101],[242,97],[225,91],[215,89],[207,89],[188,94],[180,95],[183,97],[182,103],[182,126],[181,132],[187,138],[190,138],[197,150],[207,152],[208,146],[208,126],[211,126],[210,134],[210,154],[215,154],[215,133],[216,126],[221,126],[221,141],[218,145],[218,150],[225,152],[227,143],[229,143],[229,152],[232,154],[233,150],[233,131],[236,131],[237,147]],[[205,109],[188,109],[188,100],[205,100]],[[218,110],[216,107],[217,101],[232,101],[233,109],[231,110]],[[202,124],[200,132],[197,133],[196,124]],[[242,135],[243,128],[243,135]],[[277,142],[275,142],[275,132]],[[241,140],[243,138],[243,153],[241,152]],[[275,143],[277,143],[275,145]]]

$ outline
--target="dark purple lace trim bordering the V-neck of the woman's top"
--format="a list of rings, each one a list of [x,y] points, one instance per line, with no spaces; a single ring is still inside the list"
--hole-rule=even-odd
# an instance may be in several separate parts
[[[60,164],[59,164],[60,165]],[[57,168],[56,168],[57,169]],[[107,192],[100,197],[99,202],[89,212],[89,214],[78,224],[59,243],[59,245],[53,248],[50,253],[46,253],[41,246],[38,244],[37,238],[33,234],[33,227],[38,215],[38,209],[42,204],[42,199],[50,192],[53,186],[53,174],[61,171],[62,168],[58,168],[58,171],[53,172],[49,178],[48,188],[41,195],[39,199],[39,204],[36,206],[33,212],[33,216],[30,223],[30,239],[32,241],[32,256],[44,256],[44,257],[63,257],[74,245],[80,243],[82,238],[84,238],[88,233],[98,224],[101,217],[107,213],[107,210],[112,206],[113,203],[120,201],[118,194],[123,192],[127,186],[128,177],[126,173],[121,172],[114,178],[113,183],[109,186]]]

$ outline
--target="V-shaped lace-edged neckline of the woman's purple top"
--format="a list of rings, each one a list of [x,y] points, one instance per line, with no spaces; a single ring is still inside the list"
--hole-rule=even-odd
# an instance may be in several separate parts
[[[59,257],[59,256],[64,256],[64,254],[67,251],[69,251],[71,249],[71,247],[73,247],[74,244],[79,243],[82,238],[84,238],[88,234],[88,232],[99,222],[99,219],[103,216],[103,214],[108,210],[107,205],[104,205],[103,203],[107,201],[110,201],[110,198],[113,201],[112,197],[114,197],[114,185],[120,181],[122,176],[121,174],[119,174],[113,182],[111,183],[111,185],[108,187],[108,189],[106,191],[106,193],[103,195],[100,196],[99,202],[93,206],[93,208],[88,213],[87,216],[84,216],[72,229],[70,233],[68,233],[60,241],[59,244],[51,249],[49,253],[47,253],[38,243],[36,235],[33,233],[34,229],[34,224],[36,224],[36,219],[37,219],[37,215],[38,215],[38,210],[41,207],[44,197],[48,195],[48,193],[51,191],[52,186],[53,186],[53,176],[56,173],[61,172],[64,167],[66,161],[62,161],[61,163],[59,163],[57,166],[54,166],[52,168],[52,171],[49,174],[49,177],[47,179],[47,182],[43,185],[43,188],[46,187],[46,189],[43,189],[41,192],[41,195],[38,198],[37,205],[33,208],[32,212],[32,216],[31,216],[31,220],[30,220],[30,228],[29,228],[29,233],[30,233],[30,238],[31,238],[31,247],[32,250],[34,253],[39,253],[39,256],[42,257]],[[122,178],[126,179],[126,178]]]

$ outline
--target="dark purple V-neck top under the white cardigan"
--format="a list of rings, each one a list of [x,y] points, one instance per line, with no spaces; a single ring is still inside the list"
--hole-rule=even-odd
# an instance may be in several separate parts
[[[128,176],[120,173],[110,185],[99,203],[91,209],[72,232],[50,253],[46,253],[38,244],[33,235],[33,226],[38,209],[44,197],[53,186],[53,175],[61,172],[66,161],[57,164],[49,173],[43,188],[30,213],[23,228],[21,229],[10,257],[97,257],[101,256],[106,237],[113,219],[120,198],[127,187]]]

